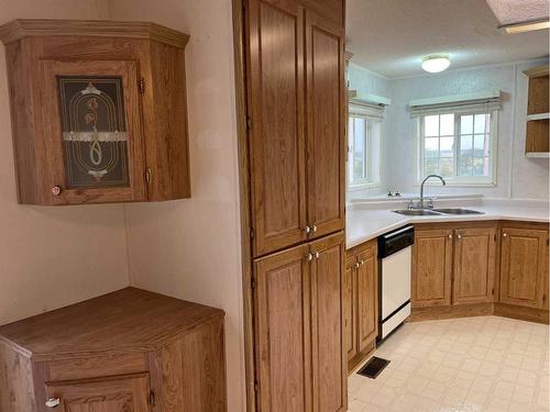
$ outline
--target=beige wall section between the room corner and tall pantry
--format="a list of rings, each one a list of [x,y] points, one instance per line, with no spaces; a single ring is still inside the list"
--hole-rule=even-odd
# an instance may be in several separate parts
[[[190,35],[193,198],[125,205],[131,281],[226,310],[229,410],[244,411],[231,1],[112,0],[109,12],[113,20],[151,20]]]

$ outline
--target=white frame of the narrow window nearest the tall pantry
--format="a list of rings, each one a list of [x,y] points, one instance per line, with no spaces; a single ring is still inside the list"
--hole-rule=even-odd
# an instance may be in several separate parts
[[[373,129],[373,122],[380,123],[380,141],[381,141],[381,147],[380,147],[380,156],[381,158],[378,159],[378,176],[381,176],[381,170],[382,170],[382,138],[383,138],[383,132],[382,132],[382,126],[383,126],[383,118],[376,118],[369,115],[366,113],[362,113],[362,108],[361,107],[353,107],[350,104],[349,111],[348,111],[348,127],[350,124],[350,119],[364,119],[366,121],[366,127],[365,127],[365,166],[366,166],[366,177],[362,178],[360,180],[352,180],[352,174],[350,172],[350,162],[353,162],[353,144],[350,135],[350,131],[346,133],[346,138],[348,138],[348,145],[346,145],[346,157],[345,157],[345,186],[348,191],[358,191],[358,190],[364,190],[364,189],[372,189],[372,188],[377,188],[381,186],[380,181],[373,181],[373,174],[372,174],[372,165],[371,165],[371,156],[372,156],[372,129]],[[354,122],[353,122],[354,123]],[[355,133],[353,131],[353,133]],[[353,134],[353,136],[355,136]]]

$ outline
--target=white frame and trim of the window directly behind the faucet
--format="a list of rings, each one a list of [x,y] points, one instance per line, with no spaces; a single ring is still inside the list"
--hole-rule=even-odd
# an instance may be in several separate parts
[[[499,110],[492,110],[490,111],[491,114],[491,177],[471,177],[471,176],[454,176],[450,178],[444,178],[447,186],[451,187],[470,187],[470,188],[487,188],[487,187],[495,187],[496,186],[496,170],[497,170],[497,162],[498,162],[498,112]],[[472,111],[453,111],[449,110],[449,113],[453,113],[455,115],[455,129],[454,129],[454,135],[455,140],[458,142],[458,138],[460,137],[458,135],[458,119],[459,115],[463,114],[472,114]],[[479,114],[480,112],[476,112]],[[427,113],[426,115],[429,115]],[[420,186],[424,178],[424,144],[425,144],[425,138],[424,138],[424,125],[422,125],[422,120],[424,115],[420,115],[416,118],[415,122],[415,135],[416,135],[416,164],[417,164],[417,172],[416,172],[416,181],[415,186]],[[457,142],[454,144],[454,149],[457,151]],[[457,153],[454,153],[454,162],[457,163]],[[457,171],[457,164],[454,165],[454,170]],[[426,186],[441,186],[440,182],[430,182],[428,180],[426,182]]]

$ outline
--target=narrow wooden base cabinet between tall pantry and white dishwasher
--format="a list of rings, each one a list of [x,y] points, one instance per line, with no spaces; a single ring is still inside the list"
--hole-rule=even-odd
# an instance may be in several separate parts
[[[344,347],[348,369],[373,348],[378,335],[378,261],[375,241],[346,253],[344,276]]]

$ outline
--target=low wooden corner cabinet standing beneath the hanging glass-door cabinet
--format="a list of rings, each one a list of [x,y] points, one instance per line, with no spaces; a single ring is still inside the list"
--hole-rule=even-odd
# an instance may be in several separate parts
[[[223,316],[127,288],[0,326],[0,411],[227,411]]]

